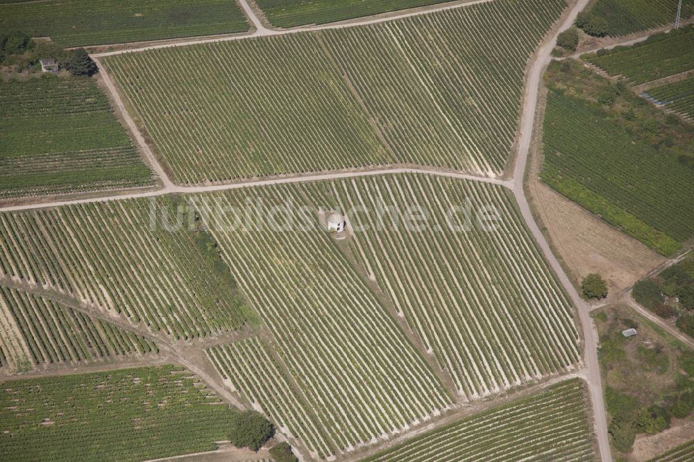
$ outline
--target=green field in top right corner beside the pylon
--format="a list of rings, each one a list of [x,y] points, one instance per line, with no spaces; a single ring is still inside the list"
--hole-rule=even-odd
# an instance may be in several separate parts
[[[678,0],[598,0],[589,12],[607,19],[609,35],[627,35],[675,22]],[[694,0],[682,1],[682,19],[694,15]]]

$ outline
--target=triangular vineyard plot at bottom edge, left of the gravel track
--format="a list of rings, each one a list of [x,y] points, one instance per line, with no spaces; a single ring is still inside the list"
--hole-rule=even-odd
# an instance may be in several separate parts
[[[579,379],[464,418],[363,462],[595,461]]]

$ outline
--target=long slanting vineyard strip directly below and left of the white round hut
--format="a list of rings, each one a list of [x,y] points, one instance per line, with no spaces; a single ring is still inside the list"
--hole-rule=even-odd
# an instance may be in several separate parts
[[[280,230],[271,223],[236,224],[235,212],[249,203],[262,205],[257,213],[267,216],[273,207],[289,207],[285,200],[304,202],[287,185],[195,202],[338,450],[375,443],[448,409],[446,388],[332,237],[316,230],[316,216],[302,213],[310,230],[289,221],[292,211],[276,216]]]

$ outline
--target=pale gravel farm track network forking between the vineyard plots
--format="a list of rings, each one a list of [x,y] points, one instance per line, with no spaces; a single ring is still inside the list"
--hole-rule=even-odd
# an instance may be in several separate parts
[[[607,434],[607,417],[604,409],[604,398],[602,394],[602,384],[601,384],[601,379],[600,379],[600,365],[598,363],[598,352],[597,352],[597,341],[596,339],[596,334],[595,330],[593,327],[593,321],[590,317],[590,310],[591,306],[584,301],[580,296],[579,293],[577,292],[577,289],[575,288],[574,284],[570,281],[570,278],[568,275],[565,273],[564,268],[562,268],[561,264],[559,263],[559,260],[555,255],[552,253],[552,250],[550,249],[550,244],[548,241],[545,239],[544,234],[541,232],[539,226],[537,223],[534,221],[530,205],[528,204],[527,198],[525,196],[525,191],[524,191],[524,178],[525,178],[525,171],[526,171],[526,166],[527,166],[527,160],[528,160],[528,153],[530,151],[530,144],[532,141],[532,132],[534,128],[534,121],[535,121],[535,115],[536,115],[536,110],[537,110],[537,105],[538,105],[538,100],[539,100],[539,94],[540,94],[540,85],[542,83],[542,76],[543,76],[543,71],[545,67],[550,63],[550,60],[552,60],[551,52],[552,49],[554,49],[557,41],[557,35],[561,31],[566,30],[569,28],[574,20],[575,17],[577,16],[578,12],[583,10],[586,5],[589,3],[589,0],[577,0],[575,2],[570,1],[570,8],[567,12],[564,12],[564,15],[562,19],[560,19],[561,24],[555,24],[555,27],[552,29],[552,33],[550,37],[545,37],[545,40],[543,44],[539,47],[539,49],[536,50],[536,53],[534,54],[534,57],[530,61],[527,67],[527,74],[526,74],[526,79],[525,79],[525,87],[524,87],[524,94],[523,94],[523,106],[522,106],[522,113],[521,113],[521,123],[519,125],[519,134],[518,134],[518,142],[516,146],[517,148],[517,153],[515,155],[514,159],[514,164],[513,168],[511,171],[511,175],[507,175],[507,178],[505,179],[491,179],[491,178],[482,178],[478,176],[471,176],[471,175],[466,175],[464,173],[459,173],[459,172],[454,172],[454,171],[444,171],[442,169],[423,169],[423,168],[409,168],[409,167],[403,167],[403,166],[393,166],[392,168],[389,169],[373,169],[373,170],[359,170],[359,171],[337,171],[337,172],[329,172],[329,173],[319,173],[319,174],[312,174],[312,175],[307,175],[307,176],[285,176],[281,178],[267,178],[267,179],[262,179],[262,180],[249,180],[246,182],[234,182],[230,184],[223,184],[223,185],[203,185],[203,186],[196,186],[196,187],[182,187],[179,185],[176,185],[170,178],[169,175],[167,174],[167,170],[160,164],[158,161],[157,157],[153,153],[152,149],[148,146],[146,143],[144,137],[142,136],[142,133],[138,130],[137,125],[135,121],[133,121],[132,117],[130,117],[130,114],[128,114],[128,111],[125,108],[125,105],[123,101],[121,100],[121,97],[119,95],[119,92],[115,86],[115,84],[112,82],[112,79],[110,76],[108,76],[108,73],[103,69],[103,66],[101,65],[101,62],[99,62],[99,59],[103,56],[107,55],[114,55],[114,54],[119,54],[119,53],[130,53],[130,52],[137,52],[137,51],[144,51],[148,49],[158,49],[158,48],[164,48],[168,46],[185,46],[188,44],[199,44],[199,43],[210,43],[210,42],[222,42],[222,41],[227,41],[227,40],[243,40],[244,38],[248,37],[260,37],[260,36],[267,36],[267,35],[282,35],[282,34],[287,34],[287,33],[298,33],[302,31],[317,31],[321,29],[328,29],[328,28],[343,28],[343,27],[352,27],[352,26],[362,26],[366,24],[375,24],[378,22],[385,22],[389,21],[391,19],[399,19],[402,17],[409,17],[409,16],[414,16],[414,15],[422,15],[428,12],[435,12],[435,11],[440,11],[440,10],[447,10],[450,8],[462,8],[466,5],[471,5],[474,3],[484,3],[486,1],[493,1],[493,0],[467,0],[467,1],[458,1],[458,2],[452,2],[452,3],[445,3],[443,6],[432,6],[432,7],[426,7],[426,8],[417,8],[415,10],[409,10],[406,12],[402,13],[389,13],[387,15],[378,15],[376,17],[371,17],[367,19],[362,19],[362,20],[350,20],[348,22],[341,22],[341,23],[335,23],[335,24],[325,24],[323,26],[309,26],[309,27],[301,27],[301,28],[292,28],[292,29],[286,29],[286,30],[276,30],[276,29],[269,29],[266,28],[260,19],[255,15],[255,12],[253,11],[253,8],[248,5],[246,0],[238,0],[239,4],[242,6],[244,12],[248,16],[248,19],[250,20],[251,24],[253,25],[253,29],[251,33],[247,33],[245,35],[230,35],[230,36],[224,36],[224,37],[199,37],[196,39],[195,37],[191,37],[189,39],[183,39],[183,40],[172,40],[166,43],[155,43],[155,44],[143,44],[142,47],[140,48],[130,48],[127,50],[118,50],[118,51],[106,51],[103,53],[94,53],[92,54],[92,58],[97,62],[97,64],[100,67],[101,70],[101,76],[103,78],[103,83],[110,93],[110,97],[112,98],[112,101],[115,102],[115,110],[118,112],[119,117],[122,117],[124,122],[126,123],[126,126],[130,130],[130,132],[133,133],[133,137],[135,138],[135,142],[137,146],[139,147],[140,151],[145,157],[145,160],[150,164],[151,169],[155,173],[155,176],[158,177],[159,180],[159,185],[160,187],[158,189],[154,190],[149,190],[149,191],[142,191],[140,189],[139,191],[119,191],[119,193],[114,193],[110,192],[110,195],[103,195],[103,194],[90,194],[90,195],[71,195],[69,198],[65,198],[65,200],[53,200],[51,198],[51,202],[33,202],[33,203],[14,203],[13,205],[6,205],[0,207],[0,212],[12,212],[12,211],[19,211],[19,210],[27,210],[27,209],[39,209],[39,208],[44,208],[44,207],[58,207],[62,205],[71,205],[71,204],[78,204],[78,203],[93,203],[93,202],[103,202],[103,201],[108,201],[108,200],[122,200],[122,199],[129,199],[129,198],[146,198],[146,197],[153,197],[153,196],[162,196],[165,194],[199,194],[199,193],[205,193],[205,192],[210,192],[210,191],[223,191],[223,190],[228,190],[228,189],[239,189],[239,188],[244,188],[244,187],[262,187],[264,185],[278,185],[282,183],[298,183],[298,182],[314,182],[314,181],[319,181],[319,180],[331,180],[331,179],[338,179],[338,178],[352,178],[352,177],[359,177],[359,176],[377,176],[377,175],[389,175],[389,174],[396,174],[396,173],[428,173],[430,175],[437,175],[437,176],[447,176],[447,177],[452,177],[452,178],[460,178],[463,180],[475,180],[475,181],[482,181],[482,182],[489,182],[493,183],[496,185],[502,185],[503,187],[507,187],[511,191],[513,191],[514,196],[516,197],[516,201],[518,203],[518,207],[521,210],[521,214],[523,216],[523,219],[525,221],[525,224],[527,228],[532,232],[532,235],[534,236],[534,239],[538,243],[539,247],[541,248],[543,254],[545,255],[545,258],[547,259],[548,263],[550,264],[551,268],[555,271],[557,276],[559,277],[559,281],[561,282],[561,285],[564,287],[564,290],[566,293],[568,293],[568,296],[570,296],[570,299],[573,301],[574,306],[577,308],[579,320],[581,323],[582,327],[582,332],[583,332],[583,339],[584,339],[584,358],[585,358],[585,368],[582,371],[579,371],[579,375],[582,375],[585,377],[588,381],[589,385],[589,391],[590,391],[590,402],[591,402],[591,407],[592,407],[592,418],[593,418],[593,427],[595,431],[595,435],[598,440],[598,447],[599,447],[599,452],[600,452],[600,459],[603,462],[611,462],[612,457],[611,457],[611,451],[610,451],[610,446],[609,446],[609,439],[608,439],[608,434]],[[643,40],[643,39],[637,39],[637,40],[629,40],[629,42],[636,42],[638,40]],[[103,49],[103,47],[100,47],[100,49]],[[26,198],[26,200],[40,200],[40,198]],[[629,293],[626,294],[627,297],[629,297]],[[630,298],[630,297],[629,297]],[[635,304],[634,304],[635,305]],[[639,310],[641,312],[641,310]],[[642,313],[643,314],[643,313]],[[122,327],[126,327],[126,323],[123,323]],[[132,327],[130,327],[132,328]],[[144,332],[139,331],[139,334],[144,334]],[[201,379],[203,381],[207,382],[210,384],[210,386],[217,391],[221,396],[223,396],[226,400],[232,403],[237,403],[237,400],[235,397],[230,395],[228,391],[226,391],[226,388],[223,386],[221,381],[214,379],[210,377],[208,373],[205,373],[205,371],[200,370],[200,368],[194,366],[192,361],[190,360],[190,356],[188,354],[180,354],[180,352],[176,351],[176,347],[174,345],[167,345],[166,343],[162,343],[162,339],[157,339],[156,340],[159,345],[162,345],[163,349],[165,352],[171,354],[172,357],[174,357],[178,362],[180,362],[182,365],[187,366],[190,368],[194,373],[197,373],[198,375],[201,376]],[[691,341],[687,342],[688,344],[691,344]],[[533,387],[534,388],[534,387]],[[437,422],[437,424],[440,422]],[[408,435],[410,436],[410,435]]]

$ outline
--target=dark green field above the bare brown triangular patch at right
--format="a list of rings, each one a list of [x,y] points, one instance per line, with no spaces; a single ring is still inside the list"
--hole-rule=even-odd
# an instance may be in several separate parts
[[[691,156],[691,130],[628,90],[613,103],[618,108],[572,96],[585,84],[600,93],[598,99],[616,97],[606,79],[580,72],[559,71],[549,83],[543,179],[659,253],[676,253],[694,234],[694,202],[688,199],[694,197],[694,169],[686,154]],[[674,155],[659,148],[671,135],[683,142]]]

